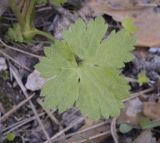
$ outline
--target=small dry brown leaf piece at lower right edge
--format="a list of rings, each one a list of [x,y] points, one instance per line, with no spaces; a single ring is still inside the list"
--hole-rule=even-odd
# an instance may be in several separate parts
[[[143,113],[152,120],[160,119],[160,102],[145,102]]]

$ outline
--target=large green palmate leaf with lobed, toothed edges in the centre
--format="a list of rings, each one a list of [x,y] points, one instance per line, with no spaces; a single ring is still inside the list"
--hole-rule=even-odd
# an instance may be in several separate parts
[[[91,20],[87,28],[79,19],[64,32],[64,40],[45,49],[46,57],[36,69],[50,78],[41,92],[46,108],[63,112],[75,104],[93,119],[119,114],[129,86],[118,69],[132,59],[135,39],[122,30],[102,41],[106,30],[102,17]]]

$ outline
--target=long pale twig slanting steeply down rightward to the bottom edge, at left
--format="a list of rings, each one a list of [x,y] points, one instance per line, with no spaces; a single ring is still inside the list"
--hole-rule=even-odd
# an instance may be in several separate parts
[[[19,78],[19,75],[18,75],[16,69],[12,65],[10,65],[10,66],[11,66],[11,72],[12,72],[14,78],[16,79],[16,81],[17,81],[18,85],[20,86],[20,88],[21,88],[23,94],[25,95],[25,97],[28,98],[27,90],[26,90],[25,86],[23,85],[21,79]],[[36,111],[36,109],[34,107],[34,104],[32,103],[31,100],[29,100],[29,104],[31,105],[32,111],[33,111],[34,115],[36,116],[36,119],[37,119],[37,121],[38,121],[38,123],[39,123],[39,125],[40,125],[40,127],[41,127],[41,129],[42,129],[42,131],[44,133],[44,135],[47,138],[47,142],[48,143],[52,143],[47,131],[45,130],[45,127],[43,126],[43,123],[41,122],[41,120],[40,120],[40,118],[38,116],[38,113],[37,113],[37,111]]]

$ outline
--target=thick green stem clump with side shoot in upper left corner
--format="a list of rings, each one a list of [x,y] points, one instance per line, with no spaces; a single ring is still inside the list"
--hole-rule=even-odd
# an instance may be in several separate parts
[[[10,0],[11,9],[17,17],[17,23],[8,30],[9,39],[24,42],[32,40],[35,35],[42,35],[54,41],[54,37],[50,33],[41,31],[34,26],[35,5],[45,2],[46,0],[23,0],[18,4],[16,0]],[[64,0],[52,0],[52,2],[54,5],[59,5]]]

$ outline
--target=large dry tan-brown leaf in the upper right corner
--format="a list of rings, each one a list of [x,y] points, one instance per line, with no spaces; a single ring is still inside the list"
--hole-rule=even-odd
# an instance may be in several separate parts
[[[138,31],[135,33],[138,46],[160,46],[160,12],[156,5],[159,0],[145,4],[140,0],[88,0],[80,10],[82,15],[98,16],[107,14],[117,21],[134,17]]]

